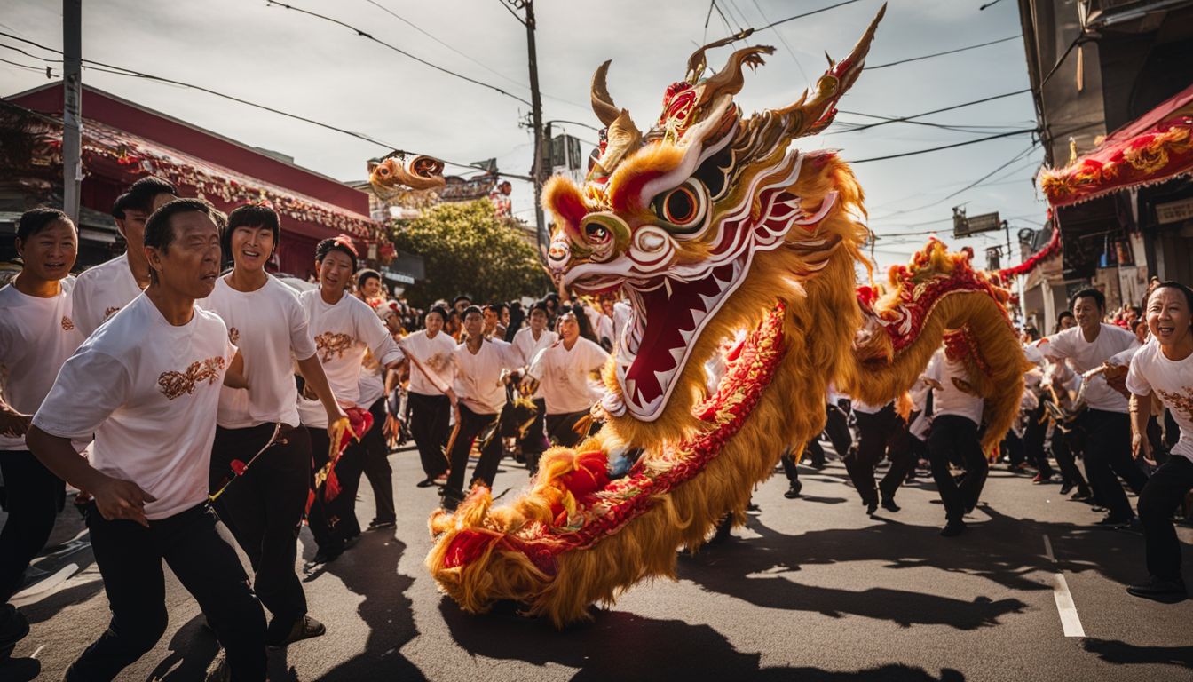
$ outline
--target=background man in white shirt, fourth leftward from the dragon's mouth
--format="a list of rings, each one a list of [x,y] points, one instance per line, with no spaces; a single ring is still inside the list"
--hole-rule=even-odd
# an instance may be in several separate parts
[[[421,369],[410,368],[410,386],[407,394],[410,406],[410,436],[419,448],[422,473],[427,477],[416,485],[431,487],[435,485],[437,479],[447,473],[444,446],[447,444],[451,411],[456,405],[456,392],[451,388],[456,380],[453,360],[456,340],[444,332],[447,324],[446,308],[431,308],[422,324],[426,325],[426,330],[402,339],[402,349],[421,365]],[[427,371],[433,376],[427,376]]]

